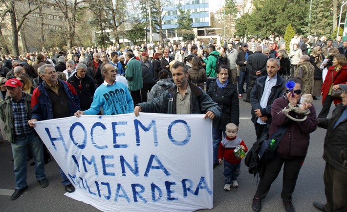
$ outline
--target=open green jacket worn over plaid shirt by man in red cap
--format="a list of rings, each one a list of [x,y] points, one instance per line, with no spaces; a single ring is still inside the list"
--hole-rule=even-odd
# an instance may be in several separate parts
[[[25,93],[25,100],[26,112],[28,113],[28,118],[31,118],[31,94]],[[14,124],[10,96],[6,96],[5,99],[0,101],[0,118],[5,123],[4,131],[7,139],[12,143],[14,141]]]

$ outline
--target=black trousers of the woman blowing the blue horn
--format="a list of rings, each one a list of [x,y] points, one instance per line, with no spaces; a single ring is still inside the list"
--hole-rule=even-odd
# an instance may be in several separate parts
[[[275,154],[274,159],[266,162],[264,176],[260,178],[260,182],[256,191],[256,197],[264,199],[270,190],[271,184],[276,180],[278,174],[283,168],[282,193],[283,202],[291,202],[292,194],[295,189],[296,181],[304,163],[305,157],[288,160],[281,158]]]

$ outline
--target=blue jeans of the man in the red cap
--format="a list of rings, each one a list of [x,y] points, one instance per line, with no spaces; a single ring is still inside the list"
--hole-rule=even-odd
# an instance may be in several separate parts
[[[11,147],[16,189],[26,187],[26,157],[28,155],[28,147],[34,157],[36,180],[43,180],[46,178],[44,174],[43,143],[35,133],[16,137],[14,142],[11,143]]]

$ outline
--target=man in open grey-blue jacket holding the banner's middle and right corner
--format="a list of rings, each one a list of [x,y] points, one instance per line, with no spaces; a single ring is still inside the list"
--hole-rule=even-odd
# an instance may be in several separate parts
[[[205,113],[204,118],[214,119],[220,117],[221,110],[218,104],[200,88],[188,82],[188,66],[177,61],[173,64],[171,72],[176,86],[149,102],[137,104],[134,108],[135,116],[138,116],[139,112],[147,112],[167,114]]]

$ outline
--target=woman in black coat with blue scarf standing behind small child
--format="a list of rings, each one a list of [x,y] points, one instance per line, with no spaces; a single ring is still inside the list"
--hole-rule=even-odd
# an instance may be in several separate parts
[[[207,92],[214,102],[222,110],[222,115],[218,120],[214,120],[212,128],[213,138],[213,167],[218,163],[219,143],[222,135],[225,137],[225,126],[234,123],[239,126],[239,97],[237,86],[230,78],[229,66],[221,65],[217,70],[217,78],[212,81]]]

